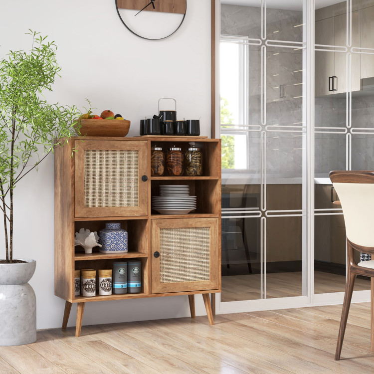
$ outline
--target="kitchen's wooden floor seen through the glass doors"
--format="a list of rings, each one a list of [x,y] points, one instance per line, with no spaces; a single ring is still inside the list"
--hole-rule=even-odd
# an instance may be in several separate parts
[[[222,277],[221,301],[261,299],[260,274]],[[346,277],[322,271],[314,273],[315,293],[344,292]],[[370,290],[370,278],[356,279],[355,291]],[[266,276],[266,297],[302,296],[301,271],[270,273]]]

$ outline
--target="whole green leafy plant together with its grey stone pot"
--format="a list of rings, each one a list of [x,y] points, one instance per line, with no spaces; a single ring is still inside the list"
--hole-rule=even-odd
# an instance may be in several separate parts
[[[5,259],[0,260],[0,345],[36,340],[35,293],[27,283],[36,262],[13,259],[13,199],[18,182],[75,135],[81,114],[75,106],[48,103],[59,76],[55,43],[36,32],[28,52],[9,51],[0,60],[0,209],[4,222]],[[78,127],[79,128],[79,125]],[[0,246],[1,248],[1,246]],[[1,257],[0,257],[1,258]]]

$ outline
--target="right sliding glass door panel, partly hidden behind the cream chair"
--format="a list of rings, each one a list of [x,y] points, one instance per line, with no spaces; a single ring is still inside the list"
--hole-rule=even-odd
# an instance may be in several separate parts
[[[316,301],[343,292],[346,283],[344,218],[329,172],[374,169],[373,31],[374,0],[316,2]],[[370,278],[358,277],[355,290],[369,289]]]

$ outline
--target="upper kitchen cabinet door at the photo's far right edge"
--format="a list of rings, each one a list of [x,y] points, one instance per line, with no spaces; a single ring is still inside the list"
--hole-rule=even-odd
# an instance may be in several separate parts
[[[361,48],[374,48],[374,6],[360,9]],[[371,52],[374,52],[371,51]],[[374,77],[374,54],[361,55],[361,78]]]

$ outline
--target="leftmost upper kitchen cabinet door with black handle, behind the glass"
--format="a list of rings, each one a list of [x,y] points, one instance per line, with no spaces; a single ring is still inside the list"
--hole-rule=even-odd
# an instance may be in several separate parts
[[[334,17],[315,23],[315,43],[334,45]],[[318,47],[317,47],[318,48]],[[315,95],[331,95],[329,77],[334,75],[334,52],[315,52]]]

